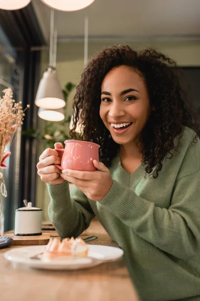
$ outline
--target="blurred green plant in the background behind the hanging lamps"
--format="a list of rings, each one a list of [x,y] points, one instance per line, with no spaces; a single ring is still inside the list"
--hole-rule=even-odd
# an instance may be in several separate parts
[[[65,103],[67,103],[68,95],[75,85],[71,82],[67,82],[64,90],[62,90],[64,95]],[[26,135],[35,138],[39,141],[45,143],[46,147],[54,148],[55,142],[64,142],[64,140],[69,139],[69,123],[71,116],[66,115],[66,105],[64,106],[65,118],[59,122],[45,121],[43,120],[43,126],[41,129],[26,129],[22,131],[22,135]]]

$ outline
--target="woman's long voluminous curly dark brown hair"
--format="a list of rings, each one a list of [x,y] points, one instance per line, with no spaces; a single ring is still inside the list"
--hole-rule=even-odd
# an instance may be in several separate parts
[[[100,144],[100,161],[107,167],[111,165],[119,144],[114,142],[99,116],[101,83],[112,68],[121,65],[139,71],[146,84],[150,105],[155,108],[139,139],[142,145],[142,162],[147,165],[145,171],[150,174],[155,167],[152,175],[153,178],[157,178],[164,158],[171,159],[172,150],[181,144],[184,126],[195,131],[194,142],[200,135],[186,93],[180,86],[182,72],[176,63],[163,53],[155,49],[134,51],[128,45],[121,45],[106,48],[93,56],[76,87],[73,99],[73,128],[70,134],[75,138],[76,124],[81,124],[84,139]]]

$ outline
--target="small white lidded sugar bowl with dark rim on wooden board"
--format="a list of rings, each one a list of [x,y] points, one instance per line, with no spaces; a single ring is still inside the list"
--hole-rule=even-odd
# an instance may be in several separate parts
[[[42,209],[27,207],[15,210],[14,235],[41,235]]]

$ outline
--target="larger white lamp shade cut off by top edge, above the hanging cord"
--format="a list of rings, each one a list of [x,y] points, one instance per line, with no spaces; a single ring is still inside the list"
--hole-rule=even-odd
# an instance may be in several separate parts
[[[94,0],[41,0],[51,9],[63,12],[74,12],[88,7]]]

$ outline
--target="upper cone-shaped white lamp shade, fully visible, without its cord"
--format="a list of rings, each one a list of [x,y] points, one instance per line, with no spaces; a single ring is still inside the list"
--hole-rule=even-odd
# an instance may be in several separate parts
[[[64,96],[55,70],[48,68],[39,82],[35,97],[36,106],[44,109],[58,109],[65,105]]]

